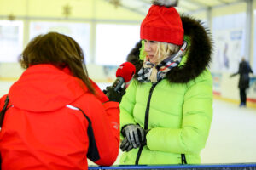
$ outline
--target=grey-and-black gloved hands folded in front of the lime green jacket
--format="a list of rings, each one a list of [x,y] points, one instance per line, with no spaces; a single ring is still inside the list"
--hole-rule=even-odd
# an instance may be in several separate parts
[[[146,144],[146,131],[143,129],[143,127],[140,127],[139,125],[126,125],[122,129],[121,133],[131,144],[132,148],[137,148],[141,146],[141,144]],[[127,146],[127,144],[125,143],[126,141],[124,142],[124,144],[122,142],[123,149],[130,149],[130,147]]]

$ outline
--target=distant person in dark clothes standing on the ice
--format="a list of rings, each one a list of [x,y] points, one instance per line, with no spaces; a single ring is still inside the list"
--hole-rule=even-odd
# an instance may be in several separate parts
[[[240,91],[240,107],[247,106],[247,93],[246,89],[249,88],[250,77],[249,73],[253,73],[249,63],[246,61],[244,57],[241,58],[241,62],[239,63],[238,72],[232,74],[230,77],[235,77],[239,74],[239,83],[238,88]]]

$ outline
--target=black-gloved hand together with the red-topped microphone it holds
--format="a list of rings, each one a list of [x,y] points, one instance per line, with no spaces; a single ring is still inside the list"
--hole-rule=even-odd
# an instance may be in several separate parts
[[[125,94],[125,82],[129,82],[135,73],[135,66],[130,62],[125,62],[122,65],[119,65],[118,70],[116,71],[116,80],[113,82],[113,85],[107,87],[106,90],[103,90],[104,94],[108,96],[110,101],[121,101],[123,95]]]

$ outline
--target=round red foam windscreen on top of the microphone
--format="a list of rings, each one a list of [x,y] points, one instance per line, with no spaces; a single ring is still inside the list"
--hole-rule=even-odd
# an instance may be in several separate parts
[[[115,75],[116,77],[123,77],[125,82],[129,82],[135,74],[135,71],[136,69],[134,65],[132,65],[130,62],[125,62],[119,66]]]

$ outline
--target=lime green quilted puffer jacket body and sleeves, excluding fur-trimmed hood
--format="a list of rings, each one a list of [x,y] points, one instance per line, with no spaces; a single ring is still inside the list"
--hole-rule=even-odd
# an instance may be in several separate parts
[[[152,83],[133,80],[120,104],[120,126],[139,123],[144,127],[149,89]],[[207,70],[188,83],[166,79],[154,88],[148,120],[147,145],[139,164],[188,164],[201,162],[212,122],[212,76]],[[124,152],[120,164],[134,165],[138,149]]]

